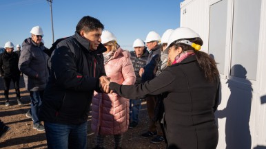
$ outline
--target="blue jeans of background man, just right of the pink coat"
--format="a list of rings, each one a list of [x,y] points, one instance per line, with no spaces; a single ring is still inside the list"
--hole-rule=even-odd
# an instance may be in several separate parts
[[[141,99],[130,100],[130,122],[139,123],[139,109],[141,109]]]

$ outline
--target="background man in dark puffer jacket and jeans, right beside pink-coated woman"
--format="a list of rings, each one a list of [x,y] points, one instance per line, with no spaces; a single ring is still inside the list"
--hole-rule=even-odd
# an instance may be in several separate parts
[[[130,51],[130,60],[136,75],[135,84],[141,83],[141,76],[139,76],[139,69],[145,67],[149,51],[145,47],[144,42],[137,38],[133,43],[134,51]],[[139,110],[141,109],[141,99],[130,99],[130,126],[134,129],[139,124]]]

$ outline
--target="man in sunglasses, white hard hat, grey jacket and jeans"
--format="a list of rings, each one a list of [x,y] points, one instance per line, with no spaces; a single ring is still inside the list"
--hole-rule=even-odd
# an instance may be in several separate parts
[[[22,43],[19,69],[23,73],[25,88],[30,91],[31,116],[33,128],[43,131],[44,126],[39,120],[39,107],[41,106],[43,91],[48,82],[48,58],[41,39],[43,30],[39,26],[32,27],[31,37]],[[28,117],[28,116],[27,116]]]

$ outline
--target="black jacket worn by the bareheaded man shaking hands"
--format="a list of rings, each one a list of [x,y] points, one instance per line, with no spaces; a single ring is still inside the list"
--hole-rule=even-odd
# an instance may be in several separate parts
[[[94,90],[105,75],[101,44],[90,51],[79,34],[61,41],[51,58],[51,75],[44,91],[40,119],[58,124],[81,124],[88,120]]]

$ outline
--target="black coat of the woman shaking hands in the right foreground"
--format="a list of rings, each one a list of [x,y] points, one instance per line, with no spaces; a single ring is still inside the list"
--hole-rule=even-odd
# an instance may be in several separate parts
[[[218,143],[214,119],[218,82],[208,82],[196,56],[190,56],[144,84],[109,85],[111,90],[131,99],[163,93],[167,148],[214,149]]]

